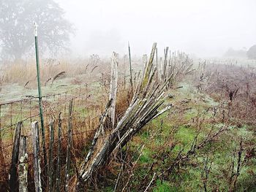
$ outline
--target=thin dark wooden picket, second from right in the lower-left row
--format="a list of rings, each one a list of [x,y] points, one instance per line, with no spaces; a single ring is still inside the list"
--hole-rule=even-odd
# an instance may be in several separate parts
[[[57,152],[57,175],[56,175],[56,191],[61,191],[61,112],[58,120],[58,152]]]

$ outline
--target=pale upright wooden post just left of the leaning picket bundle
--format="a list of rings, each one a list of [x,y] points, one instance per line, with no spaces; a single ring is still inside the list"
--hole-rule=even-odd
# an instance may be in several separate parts
[[[112,126],[115,125],[115,111],[116,111],[116,93],[117,93],[117,80],[118,80],[118,58],[117,53],[113,52],[112,62],[111,62],[111,77],[110,77],[110,100],[112,103],[110,106],[110,118],[112,121]]]

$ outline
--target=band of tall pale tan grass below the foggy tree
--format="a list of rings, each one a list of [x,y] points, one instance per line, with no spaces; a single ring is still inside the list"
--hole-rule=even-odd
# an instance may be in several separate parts
[[[42,85],[48,85],[54,77],[61,72],[65,72],[59,78],[70,77],[73,83],[93,82],[97,80],[101,72],[110,71],[110,61],[100,61],[95,63],[90,59],[79,60],[42,60],[40,61],[40,78]],[[37,67],[35,61],[15,61],[13,64],[1,66],[1,84],[18,83],[21,86],[35,88],[37,85]]]

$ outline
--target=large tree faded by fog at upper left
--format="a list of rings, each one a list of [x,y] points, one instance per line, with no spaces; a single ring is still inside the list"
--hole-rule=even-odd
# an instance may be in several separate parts
[[[53,0],[0,0],[0,57],[15,60],[34,48],[34,26],[39,26],[42,53],[56,55],[68,50],[72,24]]]

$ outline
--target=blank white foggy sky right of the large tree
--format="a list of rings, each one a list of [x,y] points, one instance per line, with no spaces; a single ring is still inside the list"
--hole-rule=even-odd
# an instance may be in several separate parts
[[[255,0],[56,0],[74,23],[72,55],[132,55],[158,47],[199,57],[256,44]]]

